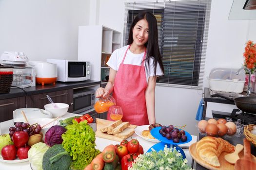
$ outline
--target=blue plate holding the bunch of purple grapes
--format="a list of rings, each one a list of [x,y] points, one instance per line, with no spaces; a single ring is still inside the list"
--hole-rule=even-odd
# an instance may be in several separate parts
[[[187,132],[185,131],[185,134],[187,136],[187,141],[185,142],[182,142],[181,140],[179,140],[178,143],[175,143],[173,142],[172,139],[167,139],[166,137],[162,136],[160,133],[159,133],[159,130],[161,129],[161,127],[156,127],[154,129],[152,129],[150,131],[151,135],[154,136],[156,139],[160,140],[161,142],[163,143],[167,143],[167,144],[175,144],[175,145],[179,145],[179,144],[184,144],[184,143],[188,143],[192,140],[192,136]]]

